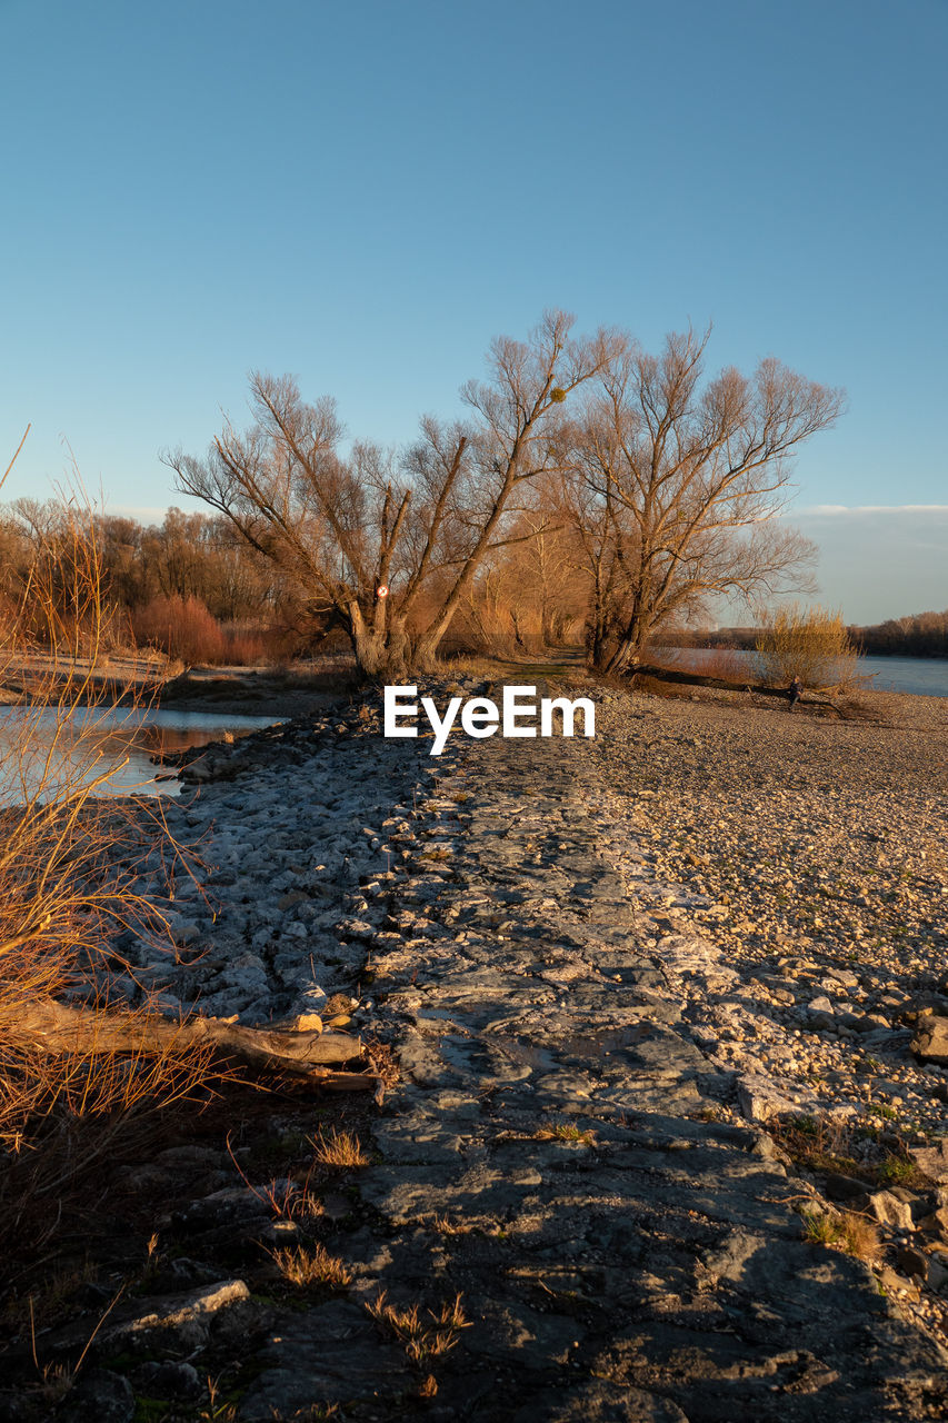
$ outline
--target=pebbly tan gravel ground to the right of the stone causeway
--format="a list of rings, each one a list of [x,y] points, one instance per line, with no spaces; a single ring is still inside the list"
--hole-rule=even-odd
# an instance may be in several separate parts
[[[911,1163],[948,1133],[948,1069],[911,1042],[920,1012],[948,1013],[948,700],[864,704],[875,720],[604,693],[574,744],[645,942],[732,1072],[723,1110],[801,1114],[848,1163],[901,1153],[901,1210],[870,1214],[945,1338],[948,1191],[925,1195]]]

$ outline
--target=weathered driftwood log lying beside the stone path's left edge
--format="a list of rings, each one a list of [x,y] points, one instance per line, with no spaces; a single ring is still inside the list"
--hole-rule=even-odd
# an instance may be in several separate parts
[[[158,1057],[209,1047],[216,1057],[256,1072],[303,1077],[320,1087],[377,1090],[372,1072],[340,1070],[362,1057],[362,1042],[349,1033],[293,1032],[280,1027],[241,1027],[232,1019],[159,1013],[110,1013],[71,1007],[54,999],[24,1003],[16,1020],[4,1023],[4,1039],[33,1052],[130,1053]]]

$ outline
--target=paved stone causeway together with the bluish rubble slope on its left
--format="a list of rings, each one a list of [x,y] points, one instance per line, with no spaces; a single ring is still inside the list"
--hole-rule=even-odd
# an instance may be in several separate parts
[[[165,1221],[189,1291],[117,1311],[98,1402],[60,1416],[105,1416],[114,1387],[131,1410],[108,1416],[131,1419],[147,1370],[196,1377],[238,1350],[221,1416],[243,1423],[942,1417],[945,1353],[865,1264],[804,1238],[814,1185],[737,1123],[734,1073],[692,1010],[729,969],[645,908],[655,877],[619,855],[628,825],[581,746],[453,737],[433,760],[377,740],[367,712],[273,747],[259,824],[236,828],[239,776],[179,811],[214,820],[218,922],[245,955],[239,982],[231,951],[202,959],[198,992],[251,1016],[255,993],[283,1012],[362,982],[353,1017],[401,1081],[366,1123],[370,1163],[307,1218],[270,1220],[263,1183],[221,1170]],[[344,814],[303,834],[316,784]],[[221,852],[248,837],[256,899]],[[201,902],[179,925],[198,946]],[[196,972],[182,962],[168,993],[186,1003]],[[276,1242],[316,1244],[342,1275],[288,1301],[259,1276]]]

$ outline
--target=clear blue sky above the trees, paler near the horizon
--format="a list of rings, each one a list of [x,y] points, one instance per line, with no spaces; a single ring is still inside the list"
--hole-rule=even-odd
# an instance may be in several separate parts
[[[252,367],[403,441],[545,306],[713,320],[848,388],[797,465],[824,598],[948,606],[947,0],[0,0],[0,51],[6,498],[67,438],[185,502],[158,450]]]

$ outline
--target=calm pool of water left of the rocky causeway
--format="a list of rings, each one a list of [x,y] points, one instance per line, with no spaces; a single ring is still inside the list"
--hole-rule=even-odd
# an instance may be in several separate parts
[[[28,723],[30,756],[10,756],[17,730]],[[56,785],[78,774],[84,781],[107,778],[97,795],[178,795],[177,767],[162,771],[152,757],[186,751],[194,746],[246,736],[278,717],[229,716],[222,712],[128,710],[80,707],[67,721],[48,707],[0,706],[0,805],[23,801],[24,785],[33,791],[40,777]],[[84,750],[77,747],[80,730]],[[91,750],[90,750],[91,748]],[[162,780],[164,777],[169,777]]]

